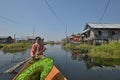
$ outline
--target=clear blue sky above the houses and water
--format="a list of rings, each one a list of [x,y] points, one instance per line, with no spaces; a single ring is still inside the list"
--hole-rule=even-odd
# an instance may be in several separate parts
[[[120,23],[120,0],[0,0],[0,36],[60,41],[86,23]]]

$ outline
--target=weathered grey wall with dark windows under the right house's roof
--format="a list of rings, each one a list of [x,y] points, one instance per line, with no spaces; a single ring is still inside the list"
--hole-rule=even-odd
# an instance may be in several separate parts
[[[120,39],[119,29],[91,29],[90,39]]]

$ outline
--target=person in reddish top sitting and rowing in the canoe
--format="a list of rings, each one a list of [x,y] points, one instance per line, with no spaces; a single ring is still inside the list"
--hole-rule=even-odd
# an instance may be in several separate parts
[[[43,44],[43,39],[40,37],[36,37],[36,43],[32,45],[30,55],[32,58],[36,58],[39,55],[44,55],[43,52],[46,50],[44,44]]]

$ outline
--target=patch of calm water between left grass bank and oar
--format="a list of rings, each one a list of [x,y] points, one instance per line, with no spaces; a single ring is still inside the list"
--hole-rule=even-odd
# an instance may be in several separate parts
[[[29,49],[22,52],[3,52],[0,51],[0,72],[10,68],[28,57]]]

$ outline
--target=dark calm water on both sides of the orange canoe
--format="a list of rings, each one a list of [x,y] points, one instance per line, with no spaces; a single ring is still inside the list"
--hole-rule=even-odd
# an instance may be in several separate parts
[[[99,64],[98,66],[85,54],[66,51],[61,45],[46,45],[46,48],[45,55],[54,59],[56,67],[68,80],[120,80],[120,66],[118,65],[111,67]],[[27,59],[30,56],[29,52],[30,49],[18,53],[0,51],[0,72]],[[11,80],[14,76],[15,73],[0,74],[0,80]]]

